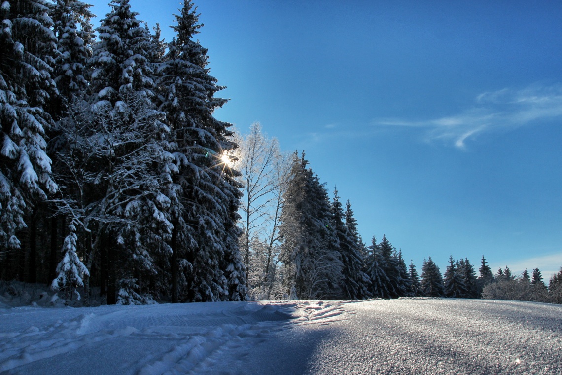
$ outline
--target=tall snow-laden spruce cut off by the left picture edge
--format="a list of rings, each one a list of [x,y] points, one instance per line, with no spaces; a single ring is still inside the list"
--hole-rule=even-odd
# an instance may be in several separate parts
[[[51,74],[57,40],[44,0],[4,0],[0,22],[0,261],[4,261],[20,249],[18,232],[26,227],[25,214],[57,188],[45,141],[52,126],[46,104],[56,95]]]

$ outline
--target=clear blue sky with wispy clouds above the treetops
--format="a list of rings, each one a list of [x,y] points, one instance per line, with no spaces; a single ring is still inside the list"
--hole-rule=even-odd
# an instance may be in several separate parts
[[[131,4],[171,39],[178,2]],[[304,149],[366,242],[385,233],[419,272],[562,266],[562,3],[195,4],[231,99],[216,117]]]

